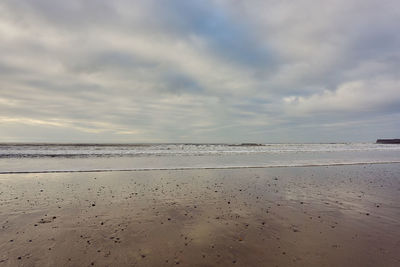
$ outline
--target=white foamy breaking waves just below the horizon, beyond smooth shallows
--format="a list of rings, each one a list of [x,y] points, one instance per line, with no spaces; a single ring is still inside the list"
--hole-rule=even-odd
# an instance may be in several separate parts
[[[21,157],[122,157],[172,155],[225,155],[248,153],[300,153],[346,151],[400,151],[397,144],[138,144],[138,145],[74,145],[24,144],[0,145],[0,158]]]

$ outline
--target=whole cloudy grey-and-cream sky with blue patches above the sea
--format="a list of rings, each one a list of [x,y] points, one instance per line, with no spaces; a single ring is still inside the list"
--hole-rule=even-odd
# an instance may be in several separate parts
[[[398,0],[1,0],[0,142],[400,137]]]

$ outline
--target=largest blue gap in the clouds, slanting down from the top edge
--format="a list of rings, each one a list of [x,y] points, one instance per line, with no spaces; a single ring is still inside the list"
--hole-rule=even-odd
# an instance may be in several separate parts
[[[273,53],[260,45],[244,21],[232,18],[226,10],[209,1],[168,1],[164,21],[183,34],[207,40],[215,56],[234,64],[265,68],[274,61]]]

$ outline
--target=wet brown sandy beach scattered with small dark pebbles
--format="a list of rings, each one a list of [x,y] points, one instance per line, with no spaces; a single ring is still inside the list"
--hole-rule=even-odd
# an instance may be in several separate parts
[[[0,266],[400,266],[400,164],[0,175]]]

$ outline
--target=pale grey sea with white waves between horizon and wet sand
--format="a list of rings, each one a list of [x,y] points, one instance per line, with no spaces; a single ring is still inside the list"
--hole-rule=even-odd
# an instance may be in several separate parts
[[[0,174],[379,163],[400,163],[400,145],[0,144]]]

